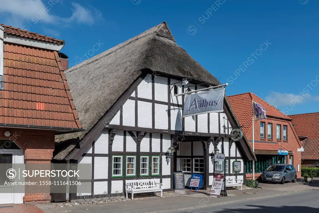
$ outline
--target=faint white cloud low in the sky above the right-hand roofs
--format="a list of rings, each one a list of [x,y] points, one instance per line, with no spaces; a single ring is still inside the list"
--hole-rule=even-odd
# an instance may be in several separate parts
[[[319,96],[313,96],[311,94],[300,93],[279,93],[271,91],[269,95],[265,97],[266,102],[273,106],[287,106],[291,103],[299,104],[307,101],[319,101]]]

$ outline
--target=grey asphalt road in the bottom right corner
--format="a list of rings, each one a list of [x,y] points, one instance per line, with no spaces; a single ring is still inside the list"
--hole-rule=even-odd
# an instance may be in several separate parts
[[[174,213],[319,213],[319,190],[301,191],[269,198],[229,203],[217,206],[198,206]]]

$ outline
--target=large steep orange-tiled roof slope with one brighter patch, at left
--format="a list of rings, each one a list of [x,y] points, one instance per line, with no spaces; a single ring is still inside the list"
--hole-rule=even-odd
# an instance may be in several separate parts
[[[4,44],[0,123],[82,128],[58,53]]]

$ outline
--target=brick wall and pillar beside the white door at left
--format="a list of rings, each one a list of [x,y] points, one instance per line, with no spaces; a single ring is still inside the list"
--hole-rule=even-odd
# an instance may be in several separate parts
[[[4,135],[6,131],[11,133],[9,137]],[[50,169],[54,150],[53,131],[0,128],[0,139],[12,140],[24,150],[26,169],[28,169],[28,167],[34,169],[34,164],[39,165],[41,169]],[[36,180],[38,179],[25,179],[25,181]],[[50,178],[42,178],[41,180],[50,180]],[[23,202],[51,202],[50,186],[26,186]]]

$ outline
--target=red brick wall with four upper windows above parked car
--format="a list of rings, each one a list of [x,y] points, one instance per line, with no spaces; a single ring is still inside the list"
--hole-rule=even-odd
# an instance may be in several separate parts
[[[260,137],[260,122],[265,123],[265,138]],[[272,139],[268,139],[268,123],[272,123]],[[277,124],[281,125],[281,135],[280,140],[277,140]],[[287,126],[287,140],[283,140],[283,126]],[[249,132],[246,134],[248,140],[252,140],[252,129],[250,128]],[[265,141],[265,142],[278,142],[284,148],[293,152],[293,165],[297,170],[297,165],[300,165],[300,171],[297,172],[297,177],[301,177],[301,152],[298,152],[297,149],[300,148],[298,143],[298,136],[293,131],[293,124],[291,121],[280,120],[276,118],[267,118],[261,121],[254,122],[254,140],[255,141]],[[283,148],[283,149],[284,149]],[[275,150],[275,149],[274,149]],[[289,156],[287,157],[287,163],[289,163]],[[248,175],[248,174],[247,174]],[[247,177],[247,176],[246,176]],[[255,176],[256,177],[256,176]]]

